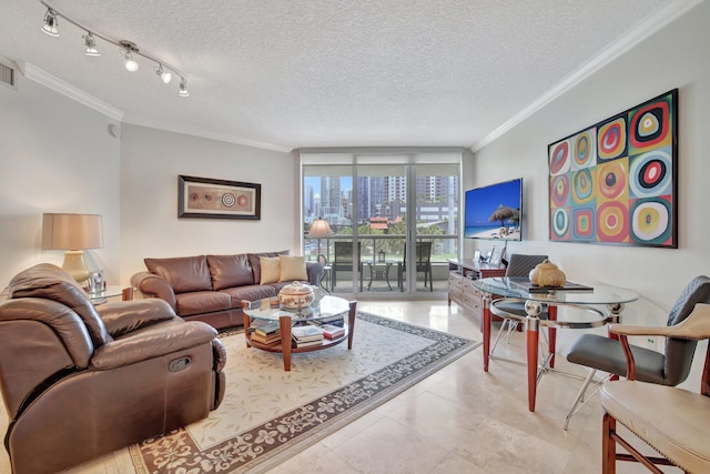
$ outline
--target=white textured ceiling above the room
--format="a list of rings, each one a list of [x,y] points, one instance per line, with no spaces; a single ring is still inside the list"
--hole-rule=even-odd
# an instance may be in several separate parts
[[[124,112],[123,120],[290,150],[470,147],[559,89],[599,54],[640,38],[692,0],[48,0],[182,70],[162,84],[139,59],[45,8],[0,0],[0,56],[27,62]],[[611,47],[611,48],[610,48]]]

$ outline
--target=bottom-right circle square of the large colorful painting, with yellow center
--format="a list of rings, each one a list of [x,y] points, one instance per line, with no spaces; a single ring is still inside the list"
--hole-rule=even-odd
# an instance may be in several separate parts
[[[672,226],[670,202],[663,199],[640,199],[631,204],[631,239],[642,244],[663,244]]]

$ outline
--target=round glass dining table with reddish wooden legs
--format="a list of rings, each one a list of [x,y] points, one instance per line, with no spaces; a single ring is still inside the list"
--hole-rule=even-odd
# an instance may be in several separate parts
[[[555,345],[557,329],[589,329],[618,323],[626,303],[633,302],[639,295],[632,291],[617,286],[595,284],[594,286],[568,284],[569,289],[531,288],[527,278],[489,278],[474,280],[473,284],[483,293],[483,333],[484,333],[484,371],[488,372],[490,360],[491,315],[525,323],[526,363],[528,379],[528,410],[535,411],[537,383],[539,376],[555,366]],[[526,315],[505,311],[505,303],[520,302]],[[558,306],[570,306],[589,314],[588,317],[567,317],[566,313],[558,317]],[[597,306],[606,306],[606,312]],[[545,316],[546,315],[546,316]],[[549,353],[538,369],[539,330],[548,330]]]

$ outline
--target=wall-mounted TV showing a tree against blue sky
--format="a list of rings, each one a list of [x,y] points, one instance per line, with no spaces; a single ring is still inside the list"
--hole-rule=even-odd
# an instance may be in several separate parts
[[[523,178],[466,191],[464,236],[523,240]]]

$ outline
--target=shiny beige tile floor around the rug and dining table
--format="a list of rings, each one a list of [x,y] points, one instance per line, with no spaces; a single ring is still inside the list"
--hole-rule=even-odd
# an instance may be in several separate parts
[[[358,310],[480,341],[478,321],[446,301],[359,301]],[[525,366],[468,353],[392,401],[274,467],[271,473],[601,472],[598,395],[562,430],[581,381],[546,374],[535,413],[527,410]],[[521,361],[523,334],[496,355]],[[557,357],[557,369],[585,374]],[[580,370],[581,369],[581,370]],[[618,473],[646,472],[619,463]],[[670,468],[669,472],[678,472]]]

